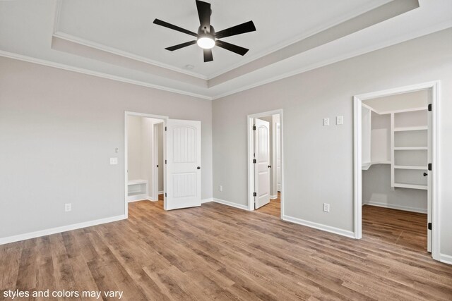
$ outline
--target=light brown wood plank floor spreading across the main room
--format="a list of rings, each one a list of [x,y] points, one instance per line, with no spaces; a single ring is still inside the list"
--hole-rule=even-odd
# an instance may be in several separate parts
[[[404,233],[394,240],[386,216],[366,218],[353,240],[222,204],[134,202],[126,221],[0,245],[0,298],[49,289],[122,290],[122,300],[450,301],[452,266]]]

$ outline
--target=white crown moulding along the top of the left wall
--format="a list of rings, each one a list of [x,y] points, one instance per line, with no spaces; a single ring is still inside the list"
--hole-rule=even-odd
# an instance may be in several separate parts
[[[126,82],[126,83],[132,84],[132,85],[149,87],[149,88],[153,88],[153,89],[157,89],[157,90],[162,90],[162,91],[166,91],[166,92],[182,94],[182,95],[196,97],[196,98],[200,98],[200,99],[212,100],[212,97],[209,97],[209,96],[206,96],[206,95],[202,95],[202,94],[186,92],[186,91],[183,91],[183,90],[172,89],[172,88],[163,87],[163,86],[160,86],[160,85],[153,85],[153,84],[150,84],[149,82],[141,82],[139,80],[131,80],[129,78],[122,78],[121,76],[117,76],[117,75],[111,75],[111,74],[107,74],[107,73],[102,73],[102,72],[97,72],[97,71],[88,70],[88,69],[84,69],[84,68],[78,68],[78,67],[65,65],[63,63],[55,63],[55,62],[46,61],[46,60],[43,60],[43,59],[36,59],[36,58],[31,57],[31,56],[23,56],[22,54],[13,54],[13,53],[8,52],[8,51],[0,50],[0,56],[4,56],[4,57],[6,57],[8,59],[16,59],[18,61],[26,61],[26,62],[29,62],[29,63],[36,63],[36,64],[42,65],[42,66],[48,66],[48,67],[58,68],[58,69],[63,69],[63,70],[69,70],[69,71],[76,72],[76,73],[83,73],[83,74],[86,74],[86,75],[93,75],[93,76],[96,76],[97,78],[107,78],[109,80],[116,80],[118,82]]]

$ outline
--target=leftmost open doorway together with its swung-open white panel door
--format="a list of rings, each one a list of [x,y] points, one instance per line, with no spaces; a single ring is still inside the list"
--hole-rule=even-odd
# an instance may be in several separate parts
[[[138,200],[160,200],[165,210],[201,206],[201,121],[126,111],[124,137],[126,216]]]

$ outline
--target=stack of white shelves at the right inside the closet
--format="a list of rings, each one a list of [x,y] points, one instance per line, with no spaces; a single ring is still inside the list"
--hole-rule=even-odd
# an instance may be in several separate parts
[[[427,190],[427,108],[391,113],[391,186]]]

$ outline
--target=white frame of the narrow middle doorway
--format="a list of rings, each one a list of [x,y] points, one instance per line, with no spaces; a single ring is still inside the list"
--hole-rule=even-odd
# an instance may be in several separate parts
[[[246,131],[248,133],[248,210],[254,211],[254,164],[253,164],[253,154],[254,154],[254,133],[253,133],[253,124],[254,124],[254,118],[259,117],[265,117],[270,115],[279,114],[280,116],[280,135],[281,135],[281,145],[280,145],[280,152],[281,152],[281,212],[280,212],[280,218],[283,219],[283,212],[284,212],[284,131],[283,131],[283,109],[277,109],[273,111],[266,111],[262,113],[255,113],[250,114],[247,116],[248,121],[248,130]],[[273,168],[273,162],[272,162],[272,168]],[[272,171],[273,172],[273,171]]]

